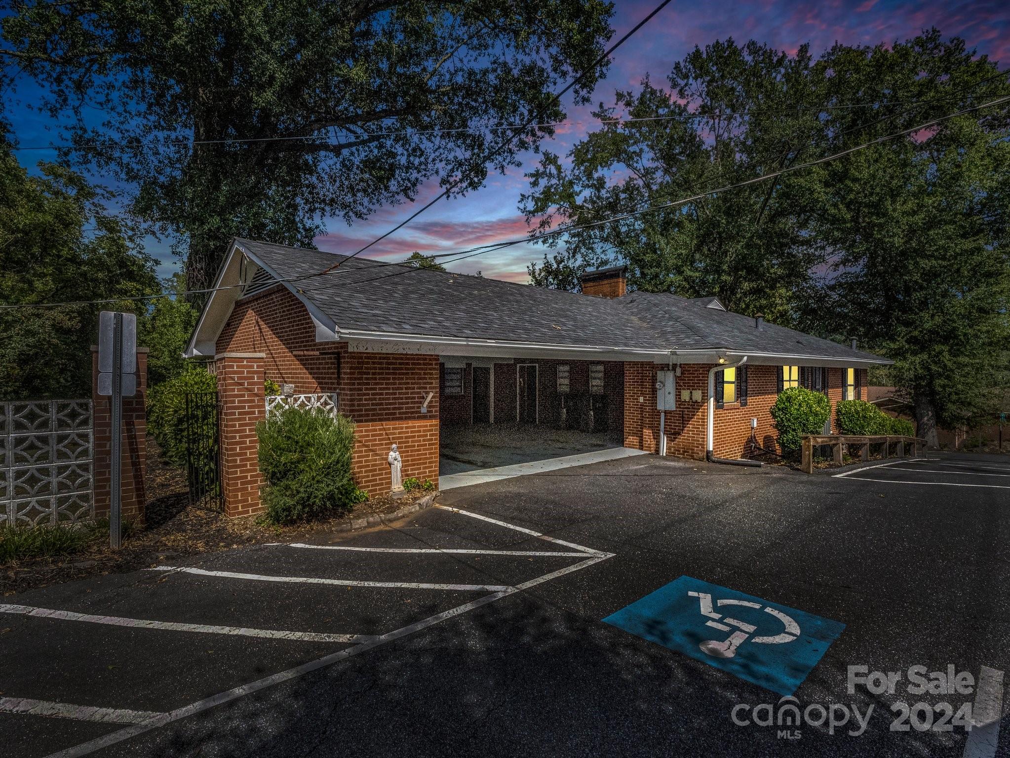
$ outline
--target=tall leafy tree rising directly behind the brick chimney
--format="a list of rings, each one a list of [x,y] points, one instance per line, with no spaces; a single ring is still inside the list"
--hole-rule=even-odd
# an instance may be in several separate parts
[[[806,46],[793,57],[732,39],[695,48],[675,65],[669,90],[646,77],[596,110],[604,123],[568,161],[545,152],[527,175],[522,210],[537,230],[591,224],[791,166],[820,131],[817,114],[799,110],[815,82]],[[622,115],[654,120],[614,122]],[[816,201],[797,175],[548,237],[565,250],[530,266],[530,277],[576,289],[582,270],[626,262],[632,288],[716,295],[731,310],[789,320],[818,259],[803,233]]]

